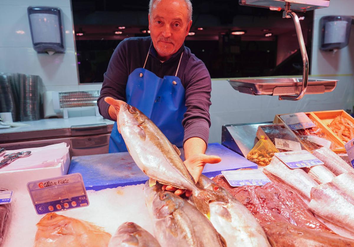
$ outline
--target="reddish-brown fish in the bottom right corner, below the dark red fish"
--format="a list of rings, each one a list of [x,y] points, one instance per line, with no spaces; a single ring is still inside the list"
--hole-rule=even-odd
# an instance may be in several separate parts
[[[268,223],[264,226],[264,231],[273,247],[354,247],[352,239],[286,222]]]

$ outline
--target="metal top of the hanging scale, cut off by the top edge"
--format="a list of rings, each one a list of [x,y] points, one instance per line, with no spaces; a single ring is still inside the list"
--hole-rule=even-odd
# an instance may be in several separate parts
[[[316,10],[318,8],[324,8],[330,5],[330,0],[239,0],[241,5],[263,8],[281,8],[283,10],[286,2],[290,3],[291,10],[301,12]]]

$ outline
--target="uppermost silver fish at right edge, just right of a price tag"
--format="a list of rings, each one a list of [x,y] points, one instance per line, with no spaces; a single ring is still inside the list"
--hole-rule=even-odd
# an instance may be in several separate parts
[[[345,162],[335,152],[327,149],[326,147],[321,147],[312,154],[320,161],[324,162],[324,166],[330,169],[336,176],[346,172],[354,173],[353,167],[348,165],[347,162]]]

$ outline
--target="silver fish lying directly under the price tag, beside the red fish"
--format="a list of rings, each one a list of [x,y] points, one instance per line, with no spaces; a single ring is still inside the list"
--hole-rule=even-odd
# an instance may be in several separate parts
[[[310,200],[310,191],[318,183],[302,169],[290,169],[277,157],[273,157],[263,172],[268,177],[285,183],[298,191],[305,199]]]

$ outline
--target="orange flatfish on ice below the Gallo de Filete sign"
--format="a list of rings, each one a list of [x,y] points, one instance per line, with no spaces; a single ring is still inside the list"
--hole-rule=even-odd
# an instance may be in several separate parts
[[[36,225],[34,247],[107,246],[111,238],[109,233],[90,222],[56,213],[47,213]]]

